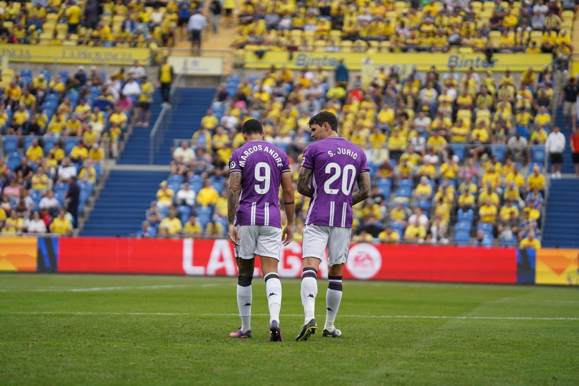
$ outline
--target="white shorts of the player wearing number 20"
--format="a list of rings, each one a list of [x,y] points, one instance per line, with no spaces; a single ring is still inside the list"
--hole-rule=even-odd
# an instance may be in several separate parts
[[[350,251],[352,229],[340,226],[306,225],[303,230],[302,259],[324,256],[328,248],[328,266],[345,264]]]

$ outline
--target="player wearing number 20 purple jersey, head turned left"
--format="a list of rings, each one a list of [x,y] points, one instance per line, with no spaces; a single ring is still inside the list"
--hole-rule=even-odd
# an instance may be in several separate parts
[[[311,200],[302,241],[301,295],[305,322],[295,340],[307,340],[316,333],[316,276],[326,247],[329,284],[322,336],[342,335],[334,328],[334,321],[342,299],[342,269],[350,250],[352,205],[364,201],[370,193],[370,170],[364,150],[339,137],[336,116],[323,111],[308,124],[316,142],[303,152],[298,177],[298,192]],[[354,181],[358,182],[356,192]]]

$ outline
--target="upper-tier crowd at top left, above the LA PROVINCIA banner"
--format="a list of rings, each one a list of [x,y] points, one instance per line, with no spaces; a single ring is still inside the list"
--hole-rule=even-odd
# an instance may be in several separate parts
[[[103,47],[173,46],[197,1],[0,2],[1,43]]]

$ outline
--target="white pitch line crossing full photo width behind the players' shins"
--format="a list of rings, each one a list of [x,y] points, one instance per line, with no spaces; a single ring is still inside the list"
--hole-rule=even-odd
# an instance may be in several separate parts
[[[195,314],[195,313],[90,313],[90,312],[60,312],[60,311],[24,311],[5,312],[0,314],[16,315],[181,315],[181,316],[204,316],[204,317],[236,317],[239,314]],[[269,314],[252,314],[265,317]],[[283,314],[285,317],[303,317],[302,314]],[[541,321],[579,321],[579,318],[541,318],[541,317],[482,317],[482,316],[446,316],[446,315],[340,315],[343,318],[387,318],[387,319],[483,319],[483,320],[541,320]]]

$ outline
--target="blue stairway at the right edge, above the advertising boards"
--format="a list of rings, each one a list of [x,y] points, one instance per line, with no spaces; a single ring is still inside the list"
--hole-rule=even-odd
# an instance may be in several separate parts
[[[579,248],[579,180],[551,179],[543,247]]]

